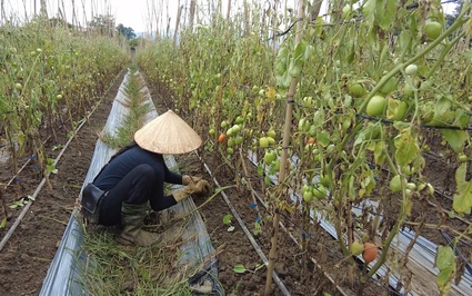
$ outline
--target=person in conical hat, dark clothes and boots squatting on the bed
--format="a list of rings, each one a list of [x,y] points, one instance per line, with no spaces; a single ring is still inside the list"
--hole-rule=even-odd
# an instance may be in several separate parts
[[[111,157],[93,180],[106,193],[98,224],[121,224],[118,241],[124,245],[150,246],[159,241],[159,234],[141,229],[149,204],[159,211],[192,194],[210,191],[209,182],[201,177],[170,171],[162,155],[190,152],[200,145],[199,135],[172,110],[143,126],[134,134],[134,141]],[[164,182],[183,187],[165,196]]]

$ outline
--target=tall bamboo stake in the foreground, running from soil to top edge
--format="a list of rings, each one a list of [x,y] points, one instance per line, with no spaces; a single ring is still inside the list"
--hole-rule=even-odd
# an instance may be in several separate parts
[[[298,18],[303,18],[303,7],[304,1],[299,0],[299,11],[298,11]],[[295,34],[295,47],[301,41],[303,23],[299,21],[297,23],[297,34]],[[282,141],[282,156],[280,158],[280,170],[279,170],[279,184],[283,184],[285,179],[285,165],[288,159],[288,147],[290,144],[290,129],[292,127],[292,112],[293,112],[293,97],[297,91],[297,83],[298,83],[298,77],[293,77],[292,82],[290,83],[289,93],[287,96],[287,109],[285,109],[285,124],[283,127],[283,141]],[[272,274],[275,266],[275,259],[277,259],[277,240],[279,237],[279,221],[280,221],[280,214],[275,210],[274,217],[273,217],[273,235],[271,237],[271,249],[269,253],[269,266],[268,266],[268,274],[265,278],[265,289],[264,295],[269,296],[271,295],[271,286],[272,286]]]

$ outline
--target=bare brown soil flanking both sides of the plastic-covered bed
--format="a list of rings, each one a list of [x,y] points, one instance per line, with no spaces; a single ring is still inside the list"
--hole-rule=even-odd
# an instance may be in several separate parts
[[[123,76],[124,72],[117,79],[98,109],[91,115],[88,124],[78,132],[77,139],[69,145],[62,155],[57,165],[58,174],[51,175],[53,189],[50,190],[44,186],[4,248],[0,250],[0,262],[2,263],[0,266],[0,295],[39,294],[42,280],[47,275],[82,187],[94,151],[97,135],[107,121],[111,103],[116,98]],[[161,101],[161,98],[171,97],[165,93],[165,89],[162,86],[155,86],[155,88],[150,88],[150,90],[159,114],[171,107],[163,105]],[[54,158],[58,154],[57,150],[52,151],[53,146],[66,144],[66,134],[62,134],[63,138],[59,142],[46,144],[51,151],[49,157]],[[177,157],[179,164],[193,164],[182,166],[182,174],[202,175],[207,179],[215,177],[221,186],[235,184],[234,172],[221,160],[221,156],[217,150],[208,152],[204,149],[200,149],[198,152],[212,170],[212,175],[210,176],[205,171],[195,154]],[[187,170],[185,167],[188,168]],[[258,178],[254,167],[249,161],[247,162],[247,168],[251,178]],[[11,171],[9,162],[0,162],[1,184],[7,184],[11,179]],[[439,171],[441,172],[441,169]],[[433,171],[432,174],[438,175],[439,172]],[[441,180],[443,179],[441,178]],[[18,176],[17,180],[3,191],[6,205],[11,205],[20,198],[32,195],[40,182],[40,176],[34,170],[33,164],[30,164]],[[261,193],[262,181],[253,184],[257,186],[254,190]],[[446,187],[446,189],[450,188]],[[230,200],[245,223],[245,226],[250,231],[253,231],[258,215],[248,203],[248,200],[252,200],[251,194],[241,187],[231,188],[224,193],[228,196],[228,200]],[[195,198],[194,201],[199,206],[203,203],[203,199]],[[254,238],[262,251],[268,256],[273,227],[267,221],[267,217],[273,216],[274,213],[263,208],[260,204],[259,206],[263,218],[262,231],[254,235]],[[394,208],[394,206],[391,207]],[[6,215],[9,217],[7,227],[0,229],[1,237],[7,234],[21,208],[8,210],[9,213],[7,214],[3,210],[0,211],[0,220]],[[252,247],[237,218],[232,218],[231,225],[223,224],[224,216],[228,214],[233,215],[227,201],[219,195],[209,205],[202,207],[200,211],[207,223],[207,229],[214,248],[222,249],[218,257],[219,280],[223,285],[227,295],[262,295],[265,286],[267,269],[262,267],[255,270],[262,264],[262,259]],[[428,205],[423,205],[421,211],[432,213],[432,215],[425,216],[440,216],[435,209]],[[308,241],[308,251],[303,254],[299,245],[287,233],[282,230],[279,237],[275,272],[288,290],[292,295],[323,295],[324,293],[341,295],[335,285],[332,284],[333,282],[340,285],[348,295],[354,295],[348,287],[348,265],[338,251],[338,243],[325,231],[321,230],[319,225],[311,225],[310,230],[307,230],[308,228],[302,229],[300,227],[302,217],[299,215],[281,213],[281,220],[295,239],[300,240],[303,235]],[[234,230],[228,231],[229,226],[234,226]],[[431,235],[431,237],[436,241],[441,240],[439,235]],[[313,258],[315,258],[315,262]],[[233,267],[235,265],[243,265],[250,270],[242,274],[234,273]],[[318,268],[317,265],[321,266],[321,268]],[[330,275],[332,282],[324,276],[324,273]],[[363,288],[363,295],[389,294],[389,289],[380,282],[370,280]],[[272,283],[272,295],[282,295],[274,283]]]

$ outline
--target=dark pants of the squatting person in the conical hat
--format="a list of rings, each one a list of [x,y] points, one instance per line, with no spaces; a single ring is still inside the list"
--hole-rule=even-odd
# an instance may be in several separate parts
[[[121,205],[141,205],[157,198],[158,190],[163,190],[163,184],[157,182],[154,169],[150,165],[140,165],[132,169],[104,197],[100,208],[100,225],[111,226],[121,224]],[[163,196],[155,200],[161,210],[175,205],[172,196]]]

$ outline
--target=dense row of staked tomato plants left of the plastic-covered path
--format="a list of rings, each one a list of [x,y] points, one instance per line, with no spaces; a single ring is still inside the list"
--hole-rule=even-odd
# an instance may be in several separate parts
[[[73,132],[128,60],[116,40],[37,18],[0,28],[0,140],[12,174],[24,155],[46,169],[47,140]]]

